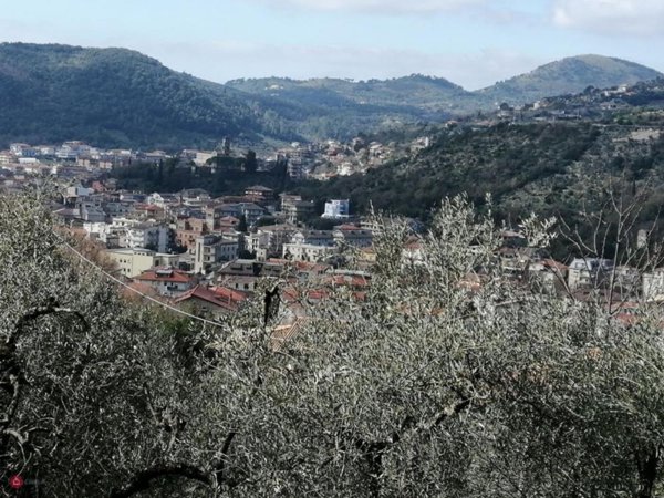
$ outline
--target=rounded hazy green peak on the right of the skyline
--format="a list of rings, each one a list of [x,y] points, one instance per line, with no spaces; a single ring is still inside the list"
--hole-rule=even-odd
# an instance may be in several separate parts
[[[622,59],[578,55],[544,64],[475,94],[494,103],[525,104],[547,96],[579,93],[588,86],[608,89],[662,75],[658,71]]]

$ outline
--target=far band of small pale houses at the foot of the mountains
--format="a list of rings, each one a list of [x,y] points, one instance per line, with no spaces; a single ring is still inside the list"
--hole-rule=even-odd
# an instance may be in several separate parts
[[[381,143],[355,137],[349,142],[329,139],[302,144],[293,142],[257,157],[257,170],[269,172],[278,164],[287,164],[288,176],[293,179],[326,180],[335,176],[366,173],[385,163],[426,148],[430,137],[418,137],[407,144]],[[65,183],[97,178],[113,168],[131,165],[158,165],[176,159],[179,167],[198,167],[215,170],[217,158],[235,157],[237,151],[224,138],[212,151],[186,148],[178,154],[164,151],[104,149],[81,141],[60,145],[31,145],[12,143],[0,151],[0,186],[20,185],[30,175],[46,174]]]

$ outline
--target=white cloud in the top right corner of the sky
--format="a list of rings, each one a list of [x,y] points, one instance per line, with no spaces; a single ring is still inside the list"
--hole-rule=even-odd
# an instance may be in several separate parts
[[[554,0],[553,22],[603,34],[662,35],[662,0]]]

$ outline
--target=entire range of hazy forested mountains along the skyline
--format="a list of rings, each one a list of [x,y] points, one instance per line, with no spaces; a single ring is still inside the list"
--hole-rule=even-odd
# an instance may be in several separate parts
[[[129,50],[2,43],[0,144],[83,139],[108,147],[181,149],[212,148],[224,136],[236,144],[349,138],[491,110],[505,100],[536,100],[657,75],[625,61],[585,56],[481,92],[417,74],[387,81],[263,79],[221,85]]]

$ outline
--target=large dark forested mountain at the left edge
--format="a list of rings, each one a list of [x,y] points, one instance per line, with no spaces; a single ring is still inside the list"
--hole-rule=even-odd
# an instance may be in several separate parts
[[[125,49],[2,43],[0,108],[0,143],[175,147],[262,131],[237,92]]]

